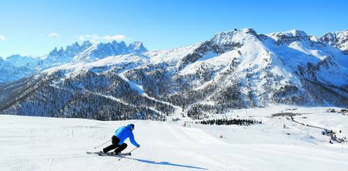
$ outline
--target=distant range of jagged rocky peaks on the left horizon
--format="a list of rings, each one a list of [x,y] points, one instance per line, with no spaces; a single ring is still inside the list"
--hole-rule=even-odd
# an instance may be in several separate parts
[[[3,67],[0,67],[0,70],[7,70],[8,73],[13,73],[13,76],[11,76],[11,74],[1,74],[0,83],[16,81],[30,76],[35,72],[47,70],[51,67],[63,65],[65,63],[90,61],[104,58],[106,56],[143,53],[145,51],[147,51],[147,49],[143,46],[142,42],[134,42],[129,44],[127,47],[125,42],[118,43],[113,41],[107,43],[97,42],[93,44],[86,40],[81,45],[78,42],[74,42],[65,49],[61,47],[58,50],[58,48],[55,47],[45,56],[8,56],[5,60],[6,66],[3,64]]]

